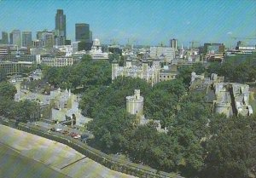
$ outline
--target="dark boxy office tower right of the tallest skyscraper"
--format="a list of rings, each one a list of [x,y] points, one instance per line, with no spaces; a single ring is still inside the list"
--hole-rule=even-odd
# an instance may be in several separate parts
[[[79,41],[79,50],[90,50],[92,40],[90,38],[89,24],[76,24],[76,41]],[[92,34],[92,32],[91,32]]]

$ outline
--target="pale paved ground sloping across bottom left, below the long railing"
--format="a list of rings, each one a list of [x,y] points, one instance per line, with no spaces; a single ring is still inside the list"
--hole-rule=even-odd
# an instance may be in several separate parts
[[[108,169],[69,146],[1,124],[0,142],[0,175],[6,175],[4,177],[134,177]],[[14,154],[16,157],[10,156],[12,160],[6,161],[9,155],[3,152],[7,151],[14,152],[10,155]],[[61,176],[63,174],[65,176]]]

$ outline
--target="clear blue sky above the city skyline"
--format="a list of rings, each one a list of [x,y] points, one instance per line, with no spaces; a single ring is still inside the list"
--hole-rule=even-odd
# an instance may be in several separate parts
[[[0,0],[0,32],[55,29],[57,9],[66,14],[67,38],[88,23],[102,43],[178,45],[238,40],[256,44],[256,0]],[[232,38],[239,37],[239,38]]]

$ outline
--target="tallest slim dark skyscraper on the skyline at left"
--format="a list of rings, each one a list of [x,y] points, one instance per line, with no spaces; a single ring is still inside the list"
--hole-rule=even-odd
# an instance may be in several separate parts
[[[64,45],[66,40],[66,14],[63,9],[57,9],[55,14],[55,43],[56,45]]]

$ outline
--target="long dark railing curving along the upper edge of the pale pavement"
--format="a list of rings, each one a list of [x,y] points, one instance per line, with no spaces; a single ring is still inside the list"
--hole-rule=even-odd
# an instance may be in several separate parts
[[[1,120],[1,119],[0,119]],[[151,169],[143,165],[133,164],[131,162],[120,160],[118,158],[114,158],[105,154],[104,152],[100,152],[93,147],[88,146],[87,144],[75,140],[73,138],[61,135],[60,133],[50,132],[48,129],[43,129],[38,126],[27,125],[26,123],[17,123],[16,121],[3,121],[0,122],[4,125],[13,127],[15,129],[20,129],[22,131],[31,133],[33,135],[39,135],[45,137],[49,140],[57,141],[67,146],[72,147],[77,152],[80,152],[87,156],[88,158],[96,161],[99,164],[104,165],[109,169],[113,169],[128,175],[135,175],[137,177],[145,177],[145,178],[183,178],[180,175],[174,173],[166,173],[162,171],[158,171],[156,169]]]

